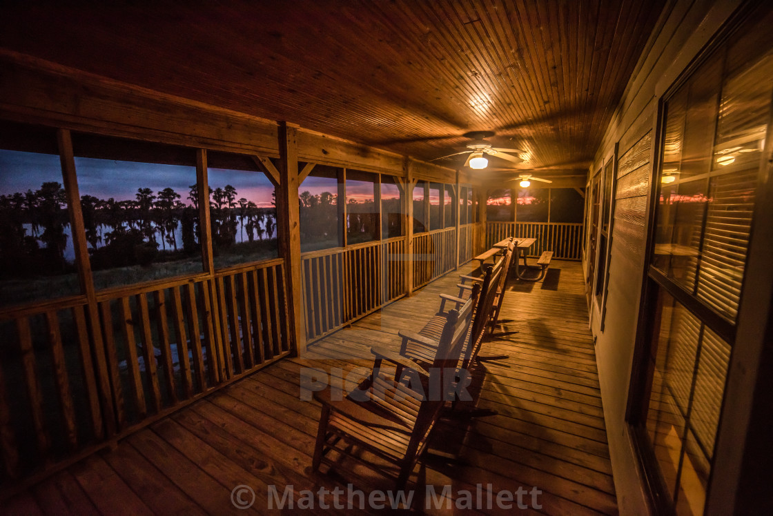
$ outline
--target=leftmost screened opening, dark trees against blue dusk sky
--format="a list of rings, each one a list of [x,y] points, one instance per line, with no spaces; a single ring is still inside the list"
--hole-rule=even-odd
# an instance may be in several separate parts
[[[0,304],[79,292],[59,156],[0,150]]]

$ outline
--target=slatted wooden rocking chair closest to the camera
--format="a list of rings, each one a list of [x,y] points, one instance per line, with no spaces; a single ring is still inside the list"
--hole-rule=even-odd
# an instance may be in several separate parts
[[[359,461],[355,452],[366,450],[397,465],[397,489],[405,487],[411,471],[427,449],[430,433],[448,397],[425,395],[432,392],[431,382],[437,381],[436,378],[431,380],[431,375],[442,374],[449,368],[455,371],[479,292],[479,287],[475,287],[458,310],[446,314],[429,370],[386,351],[376,357],[373,373],[360,385],[362,390],[357,395],[350,393],[342,400],[335,400],[331,399],[331,389],[315,392],[315,399],[322,403],[322,415],[313,470],[318,470],[321,463],[338,467],[346,456]],[[383,371],[383,362],[402,370],[410,369],[410,375],[420,379],[419,385],[400,382],[399,376]],[[337,455],[335,459],[330,455],[332,451]],[[383,468],[379,469],[386,474]]]

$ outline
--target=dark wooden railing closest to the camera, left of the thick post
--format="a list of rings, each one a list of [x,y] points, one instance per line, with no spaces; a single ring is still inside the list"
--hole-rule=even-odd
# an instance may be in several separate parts
[[[283,260],[271,260],[3,311],[5,476],[87,453],[288,355],[285,295]]]

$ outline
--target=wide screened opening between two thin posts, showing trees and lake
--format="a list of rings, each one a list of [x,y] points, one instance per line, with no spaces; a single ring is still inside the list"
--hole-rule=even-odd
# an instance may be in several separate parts
[[[94,287],[203,270],[192,151],[90,135],[73,150]]]

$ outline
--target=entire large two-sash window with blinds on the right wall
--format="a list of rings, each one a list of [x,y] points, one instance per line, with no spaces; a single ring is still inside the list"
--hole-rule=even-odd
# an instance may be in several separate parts
[[[773,8],[758,8],[664,103],[646,365],[629,417],[655,498],[676,514],[703,514],[741,290],[754,280],[744,272],[773,100]]]

